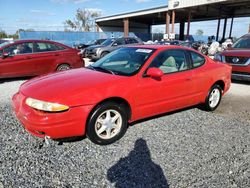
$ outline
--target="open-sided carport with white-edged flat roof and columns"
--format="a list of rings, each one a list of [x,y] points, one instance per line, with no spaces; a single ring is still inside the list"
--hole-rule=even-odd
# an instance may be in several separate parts
[[[249,0],[169,0],[166,6],[101,17],[96,19],[96,24],[98,30],[122,31],[124,36],[128,36],[129,32],[149,34],[152,25],[165,24],[168,38],[171,33],[175,33],[175,23],[179,23],[179,39],[184,40],[185,33],[187,36],[190,34],[190,22],[218,20],[218,40],[221,20],[224,20],[223,40],[226,37],[228,19],[231,19],[228,36],[231,37],[234,18],[246,16],[250,16]]]

